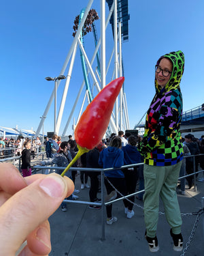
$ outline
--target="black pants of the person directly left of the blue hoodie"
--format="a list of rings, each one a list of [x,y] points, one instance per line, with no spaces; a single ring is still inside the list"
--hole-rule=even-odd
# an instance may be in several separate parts
[[[88,176],[90,177],[89,198],[91,202],[97,200],[97,193],[99,190],[99,174],[100,171],[88,171]]]

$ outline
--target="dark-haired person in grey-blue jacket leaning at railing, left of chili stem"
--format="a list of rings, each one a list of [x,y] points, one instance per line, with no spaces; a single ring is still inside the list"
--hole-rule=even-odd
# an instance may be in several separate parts
[[[63,141],[61,143],[61,152],[56,154],[54,158],[52,158],[51,160],[41,161],[41,165],[56,165],[58,167],[67,167],[67,165],[69,165],[69,162],[71,162],[72,160],[71,153],[69,152],[69,150],[67,150],[67,148],[68,148],[68,142]],[[61,173],[63,173],[63,171],[64,169],[61,169],[61,170],[56,169],[56,173],[60,175]],[[69,169],[69,171],[67,171],[65,175],[71,179],[71,170]],[[71,195],[69,199],[70,200],[78,199],[78,196]],[[63,212],[67,212],[67,204],[65,202],[61,203],[61,210]]]

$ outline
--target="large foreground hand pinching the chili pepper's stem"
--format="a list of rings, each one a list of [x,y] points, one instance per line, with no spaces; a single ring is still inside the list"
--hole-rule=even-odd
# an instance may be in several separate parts
[[[48,255],[51,251],[48,218],[73,193],[68,177],[56,173],[22,177],[11,164],[0,165],[0,252],[14,256]]]

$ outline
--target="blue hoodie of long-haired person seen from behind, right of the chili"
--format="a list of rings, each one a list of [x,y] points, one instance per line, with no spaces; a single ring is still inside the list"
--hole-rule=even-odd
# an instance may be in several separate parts
[[[118,168],[124,165],[124,154],[118,147],[104,148],[99,155],[99,165],[106,168]],[[121,170],[105,171],[107,177],[124,177]]]

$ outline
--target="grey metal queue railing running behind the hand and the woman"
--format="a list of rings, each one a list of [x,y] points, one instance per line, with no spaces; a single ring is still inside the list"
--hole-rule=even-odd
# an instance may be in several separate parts
[[[196,169],[195,169],[195,157],[198,157],[198,156],[204,156],[204,154],[193,155],[193,156],[192,155],[191,156],[184,156],[184,158],[189,158],[189,157],[193,158],[193,170],[194,171],[191,174],[179,177],[179,180],[182,180],[182,179],[184,179],[186,177],[194,175],[194,191],[197,190],[196,175],[198,173],[201,173],[201,172],[204,171],[204,170],[202,170],[202,171],[197,171],[196,172]],[[143,163],[134,164],[134,165],[125,165],[125,166],[120,167],[120,169],[138,167],[139,165],[143,165]],[[44,169],[50,169],[50,170],[62,170],[62,169],[65,169],[65,167],[50,167],[50,166],[41,166],[41,165],[36,165],[33,168],[35,170],[34,173],[37,173],[37,171],[41,171],[41,173],[43,173]],[[73,168],[73,167],[71,167],[70,170],[71,171],[73,171],[73,170],[78,170],[78,171],[97,171],[97,172],[101,173],[101,203],[95,203],[95,202],[90,202],[90,201],[73,201],[73,200],[67,200],[67,199],[65,199],[64,202],[66,202],[66,203],[80,203],[80,204],[84,204],[84,205],[90,205],[91,204],[91,205],[101,206],[101,240],[105,240],[105,206],[109,205],[110,203],[115,203],[116,201],[120,201],[120,200],[123,200],[123,199],[128,199],[129,197],[133,197],[135,195],[139,195],[140,193],[145,192],[145,190],[140,190],[140,191],[135,192],[135,193],[133,193],[131,195],[122,196],[120,198],[114,199],[113,201],[105,202],[105,186],[104,186],[105,175],[104,175],[104,172],[105,171],[114,171],[116,169],[114,169],[114,168],[97,169],[97,168]],[[133,204],[135,204],[135,203],[133,203]],[[137,204],[135,204],[135,205],[137,205]],[[137,206],[139,206],[139,205],[137,205]],[[140,207],[140,208],[142,208],[142,207]],[[190,214],[183,214],[183,215],[188,216]],[[203,232],[204,232],[204,224],[203,224]]]

